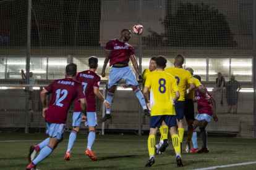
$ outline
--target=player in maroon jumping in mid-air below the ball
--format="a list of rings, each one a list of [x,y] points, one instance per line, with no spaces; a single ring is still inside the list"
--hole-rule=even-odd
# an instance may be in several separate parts
[[[134,47],[130,46],[130,44],[127,43],[127,41],[129,41],[130,39],[130,35],[130,30],[124,29],[121,31],[121,37],[119,39],[111,39],[106,44],[106,59],[101,72],[101,76],[103,78],[106,76],[105,70],[109,60],[109,65],[112,66],[108,78],[108,95],[106,97],[106,100],[109,103],[112,102],[118,82],[121,79],[125,79],[126,84],[132,87],[132,91],[134,91],[137,98],[139,99],[140,104],[142,105],[144,110],[144,115],[150,116],[147,105],[145,103],[145,99],[138,87],[139,83],[137,82],[134,72],[132,72],[132,69],[128,65],[129,60],[132,60],[132,65],[134,66],[135,71],[139,75],[139,79],[142,80],[138,63],[134,55]],[[106,119],[110,118],[110,108],[107,108],[106,115],[101,119],[101,121],[104,122],[106,121]]]

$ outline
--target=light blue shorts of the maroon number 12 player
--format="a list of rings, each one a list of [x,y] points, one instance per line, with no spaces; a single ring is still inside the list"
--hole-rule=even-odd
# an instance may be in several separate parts
[[[57,137],[58,140],[62,139],[62,134],[64,133],[66,124],[57,124],[46,122],[47,131],[46,134],[49,134],[50,137]]]

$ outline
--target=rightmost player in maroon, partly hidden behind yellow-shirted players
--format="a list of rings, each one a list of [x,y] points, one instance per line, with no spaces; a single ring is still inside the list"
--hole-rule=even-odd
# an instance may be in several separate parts
[[[197,78],[201,81],[201,77],[199,75],[194,75],[194,78]],[[190,150],[190,152],[197,152],[197,153],[208,153],[209,150],[207,148],[207,131],[205,131],[205,127],[211,120],[211,116],[213,116],[214,121],[218,121],[218,117],[216,115],[216,103],[215,99],[211,96],[210,92],[207,91],[207,88],[203,87],[205,92],[200,91],[200,89],[195,89],[195,100],[197,102],[197,110],[198,115],[195,116],[194,121],[194,133],[192,137],[192,142],[194,148]],[[207,100],[207,95],[210,97],[210,100]],[[199,126],[201,137],[203,140],[203,147],[201,150],[198,150],[197,145],[197,131],[195,129]]]

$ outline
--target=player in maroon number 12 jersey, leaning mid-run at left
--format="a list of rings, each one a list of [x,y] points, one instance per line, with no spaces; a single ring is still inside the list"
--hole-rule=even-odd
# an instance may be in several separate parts
[[[80,107],[83,112],[81,121],[87,121],[87,103],[85,94],[83,93],[83,86],[79,81],[75,81],[77,65],[69,63],[66,66],[65,75],[65,79],[56,79],[41,91],[40,97],[43,105],[43,116],[45,117],[47,126],[46,134],[49,134],[49,138],[39,145],[30,147],[28,160],[32,162],[28,164],[27,170],[35,169],[36,164],[45,160],[63,140],[67,112],[75,99],[80,101]],[[49,107],[46,105],[47,94],[51,94]],[[35,158],[36,153],[40,150],[40,154]]]

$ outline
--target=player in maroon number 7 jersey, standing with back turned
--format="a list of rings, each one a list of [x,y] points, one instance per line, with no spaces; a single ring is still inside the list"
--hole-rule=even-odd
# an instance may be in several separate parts
[[[85,155],[89,156],[91,160],[96,161],[97,158],[93,155],[92,145],[95,140],[95,126],[98,124],[97,115],[96,115],[96,104],[95,104],[95,95],[100,99],[107,108],[110,107],[110,104],[106,102],[104,97],[99,91],[100,87],[100,76],[98,76],[95,71],[98,68],[98,58],[92,56],[88,59],[89,70],[79,72],[76,76],[77,81],[81,82],[83,85],[83,91],[85,92],[85,99],[87,101],[87,123],[85,126],[89,126],[89,135],[87,150]],[[75,139],[77,137],[77,132],[79,132],[80,126],[82,125],[82,110],[80,107],[79,101],[75,101],[74,115],[73,115],[73,130],[69,136],[69,144],[67,145],[67,153],[64,157],[65,161],[70,160],[71,149],[74,145]]]

